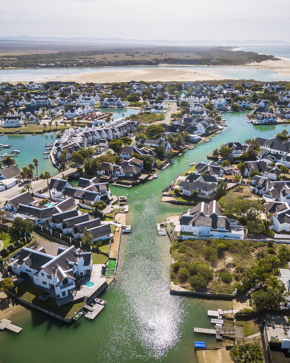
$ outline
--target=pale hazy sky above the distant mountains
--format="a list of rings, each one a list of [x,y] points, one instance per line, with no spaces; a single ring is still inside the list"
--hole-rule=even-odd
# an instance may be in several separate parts
[[[287,0],[1,1],[0,36],[287,41],[287,8]]]

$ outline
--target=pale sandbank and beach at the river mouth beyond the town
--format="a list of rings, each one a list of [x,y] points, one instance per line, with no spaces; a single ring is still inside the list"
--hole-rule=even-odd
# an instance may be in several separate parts
[[[198,68],[198,66],[195,66]],[[235,67],[235,66],[233,66]],[[281,59],[279,61],[264,61],[261,63],[253,63],[250,65],[239,66],[245,68],[260,68],[272,70],[283,75],[290,77],[290,61]],[[123,68],[120,67],[118,70],[104,69],[98,70],[97,72],[85,72],[75,73],[67,76],[58,76],[50,78],[50,81],[76,81],[76,82],[128,82],[132,79],[136,81],[210,81],[224,79],[215,72],[214,67],[208,69],[202,67],[200,72],[196,72],[195,69],[188,69],[186,66],[170,66],[162,68]],[[217,68],[218,70],[218,68]]]

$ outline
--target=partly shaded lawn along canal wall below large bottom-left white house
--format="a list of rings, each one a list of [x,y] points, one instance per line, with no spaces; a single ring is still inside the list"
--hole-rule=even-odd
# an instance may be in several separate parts
[[[49,298],[46,301],[39,300],[38,297],[43,294],[44,290],[26,281],[20,282],[15,290],[18,297],[66,318],[71,318],[83,306],[83,302],[78,302],[58,307],[53,298]]]

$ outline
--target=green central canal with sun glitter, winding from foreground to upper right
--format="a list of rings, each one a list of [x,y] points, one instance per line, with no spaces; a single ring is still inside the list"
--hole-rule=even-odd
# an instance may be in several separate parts
[[[229,140],[253,135],[271,137],[289,126],[254,126],[245,113],[223,114],[228,127],[211,142],[196,145],[163,171],[159,178],[137,187],[111,187],[112,193],[128,198],[127,223],[133,233],[122,236],[116,280],[101,298],[105,309],[94,321],[84,318],[72,325],[62,324],[34,310],[21,308],[10,320],[23,330],[20,334],[0,332],[0,362],[196,362],[194,340],[214,337],[194,334],[194,327],[211,327],[208,309],[229,309],[231,302],[178,297],[169,294],[170,242],[157,236],[156,223],[181,213],[179,206],[161,203],[162,189],[192,161],[205,161],[214,148]],[[136,194],[138,190],[140,193]]]

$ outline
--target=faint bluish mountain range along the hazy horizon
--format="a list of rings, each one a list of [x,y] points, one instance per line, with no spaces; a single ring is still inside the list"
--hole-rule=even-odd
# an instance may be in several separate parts
[[[142,40],[142,39],[122,39],[122,38],[63,38],[63,37],[29,37],[6,36],[0,40],[18,41],[51,41],[51,42],[75,42],[75,43],[114,43],[114,44],[140,44],[140,45],[290,45],[290,42],[283,40]]]

